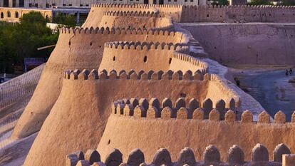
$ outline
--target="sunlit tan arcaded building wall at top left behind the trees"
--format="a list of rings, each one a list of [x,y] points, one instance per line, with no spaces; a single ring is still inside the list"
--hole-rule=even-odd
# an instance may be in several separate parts
[[[51,18],[51,10],[42,9],[22,9],[22,8],[3,8],[0,7],[0,21],[19,22],[19,18],[28,14],[30,11],[38,11],[44,18]],[[10,13],[10,16],[9,16]],[[3,18],[2,18],[3,14]]]

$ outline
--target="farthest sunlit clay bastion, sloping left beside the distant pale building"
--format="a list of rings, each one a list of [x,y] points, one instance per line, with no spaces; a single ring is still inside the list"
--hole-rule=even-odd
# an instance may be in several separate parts
[[[88,17],[82,27],[96,27],[100,25],[105,11],[145,11],[155,12],[150,6],[126,5],[126,4],[97,4],[90,9]]]

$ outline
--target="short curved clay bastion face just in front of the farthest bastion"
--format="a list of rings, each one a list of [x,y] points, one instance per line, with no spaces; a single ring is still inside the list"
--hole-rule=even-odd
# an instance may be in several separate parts
[[[115,28],[166,28],[172,27],[169,18],[156,16],[103,16],[100,27]]]

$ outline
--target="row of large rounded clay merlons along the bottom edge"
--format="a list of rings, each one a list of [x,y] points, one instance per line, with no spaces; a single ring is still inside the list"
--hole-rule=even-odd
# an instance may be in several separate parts
[[[194,147],[195,149],[195,147]],[[291,155],[291,150],[287,145],[283,143],[276,145],[273,150],[274,159],[269,158],[269,152],[271,150],[267,149],[264,145],[258,143],[252,148],[252,158],[249,161],[245,160],[244,150],[239,147],[239,145],[232,145],[227,150],[227,160],[221,160],[221,152],[215,145],[208,145],[205,150],[203,150],[203,155],[201,160],[197,160],[194,154],[193,149],[190,147],[185,147],[180,150],[177,155],[177,160],[172,160],[170,151],[168,148],[160,147],[153,157],[153,160],[150,164],[146,164],[145,153],[140,149],[132,150],[129,155],[125,158],[127,160],[123,161],[123,154],[118,149],[109,150],[108,154],[105,157],[105,160],[100,159],[100,153],[97,150],[87,150],[84,154],[82,151],[73,152],[70,155],[66,155],[66,166],[90,166],[90,165],[99,165],[99,166],[182,166],[182,165],[195,165],[195,166],[209,166],[209,165],[240,165],[240,166],[281,166],[282,162],[289,162],[291,166],[295,163],[291,162],[294,160],[294,155]],[[200,151],[199,150],[199,151]],[[284,161],[283,161],[284,160]]]

